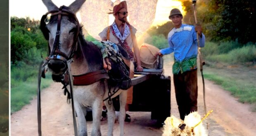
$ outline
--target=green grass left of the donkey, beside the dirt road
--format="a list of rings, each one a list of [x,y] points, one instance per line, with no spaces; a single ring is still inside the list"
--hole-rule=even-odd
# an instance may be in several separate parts
[[[42,58],[40,50],[29,49],[23,61],[11,65],[11,113],[21,110],[37,94],[38,69]],[[41,89],[50,86],[51,76],[42,79]]]

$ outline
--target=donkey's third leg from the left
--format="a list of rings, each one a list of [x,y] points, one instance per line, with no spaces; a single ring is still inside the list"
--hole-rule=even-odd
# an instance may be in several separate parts
[[[104,101],[105,106],[107,107],[107,124],[108,124],[108,136],[113,136],[114,122],[115,122],[115,111],[113,103],[109,105],[109,100]]]

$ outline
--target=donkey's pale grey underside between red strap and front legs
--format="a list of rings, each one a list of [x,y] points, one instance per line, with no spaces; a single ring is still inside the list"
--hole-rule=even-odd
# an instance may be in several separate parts
[[[74,86],[74,101],[77,101],[82,106],[92,107],[95,101],[102,101],[105,86],[104,83],[99,81],[85,86]]]

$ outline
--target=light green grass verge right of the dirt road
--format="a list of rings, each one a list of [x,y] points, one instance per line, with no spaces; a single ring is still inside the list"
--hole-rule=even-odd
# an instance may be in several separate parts
[[[223,89],[239,98],[241,103],[253,105],[256,112],[256,70],[244,66],[234,68],[217,68],[214,66],[204,68],[204,77],[220,85]]]

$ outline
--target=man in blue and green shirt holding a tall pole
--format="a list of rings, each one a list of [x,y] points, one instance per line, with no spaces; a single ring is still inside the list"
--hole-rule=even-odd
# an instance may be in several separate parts
[[[182,23],[183,15],[179,9],[172,9],[169,19],[174,28],[168,34],[169,46],[156,55],[174,52],[173,81],[180,119],[197,111],[197,33],[199,46],[204,47],[205,37],[200,25],[196,27]]]

